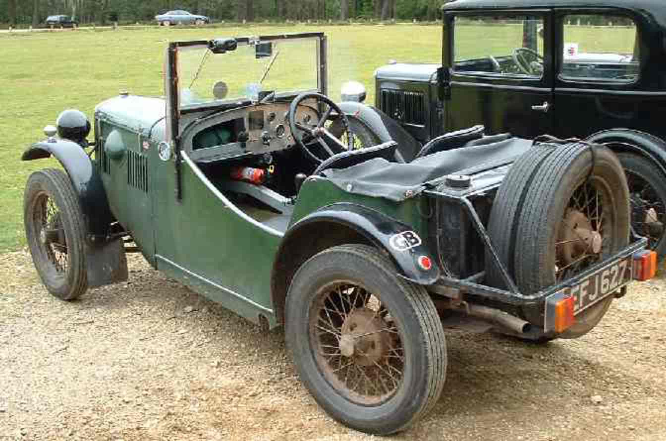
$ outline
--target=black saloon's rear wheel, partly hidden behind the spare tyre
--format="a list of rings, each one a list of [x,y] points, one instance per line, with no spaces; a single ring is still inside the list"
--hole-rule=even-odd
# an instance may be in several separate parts
[[[666,177],[644,157],[617,154],[627,175],[631,201],[631,226],[639,236],[649,238],[649,246],[663,258],[666,254]]]

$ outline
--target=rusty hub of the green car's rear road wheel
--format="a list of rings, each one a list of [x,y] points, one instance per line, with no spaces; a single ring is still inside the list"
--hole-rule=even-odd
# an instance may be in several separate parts
[[[356,308],[342,324],[340,353],[353,358],[356,364],[372,366],[382,360],[391,347],[391,337],[386,322],[376,311]]]

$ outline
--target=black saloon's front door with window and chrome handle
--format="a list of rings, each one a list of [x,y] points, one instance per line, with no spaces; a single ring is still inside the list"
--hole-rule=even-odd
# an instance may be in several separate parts
[[[551,133],[551,11],[449,13],[444,89],[447,131],[476,124],[519,137]]]

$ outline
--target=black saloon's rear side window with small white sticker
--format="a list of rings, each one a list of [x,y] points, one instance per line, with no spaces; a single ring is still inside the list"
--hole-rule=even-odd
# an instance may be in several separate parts
[[[632,82],[638,79],[639,33],[623,15],[565,15],[559,76],[573,81]]]

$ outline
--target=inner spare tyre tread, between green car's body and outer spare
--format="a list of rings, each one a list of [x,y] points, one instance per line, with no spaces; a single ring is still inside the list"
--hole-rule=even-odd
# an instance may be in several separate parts
[[[525,195],[540,170],[541,164],[556,148],[557,146],[540,144],[521,155],[511,165],[490,212],[488,235],[500,260],[509,271],[509,275],[514,278],[515,234]],[[498,288],[507,288],[500,270],[493,262],[490,250],[486,249],[488,284]]]

